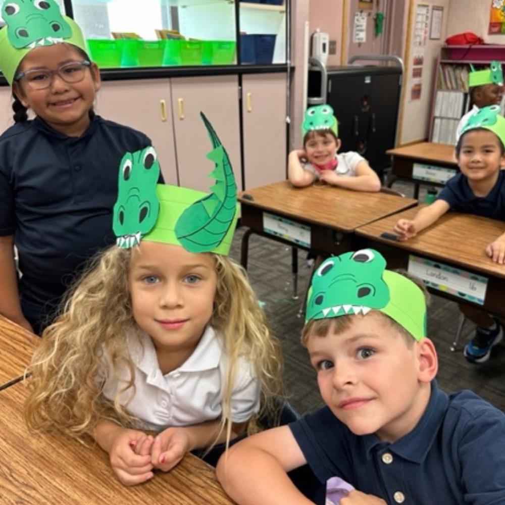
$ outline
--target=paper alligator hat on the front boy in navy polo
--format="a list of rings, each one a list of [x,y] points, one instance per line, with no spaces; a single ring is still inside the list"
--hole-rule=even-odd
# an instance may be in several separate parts
[[[391,270],[374,249],[345,252],[325,260],[314,273],[305,322],[376,309],[411,333],[426,336],[426,301],[414,282]]]

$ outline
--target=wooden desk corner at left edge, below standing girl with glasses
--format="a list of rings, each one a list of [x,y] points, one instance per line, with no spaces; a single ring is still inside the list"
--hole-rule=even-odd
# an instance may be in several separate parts
[[[0,316],[0,389],[23,378],[39,338]]]

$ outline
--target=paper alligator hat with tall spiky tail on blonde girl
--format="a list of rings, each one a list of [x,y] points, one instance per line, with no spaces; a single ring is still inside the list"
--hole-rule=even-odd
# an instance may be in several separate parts
[[[157,184],[160,165],[152,146],[126,153],[112,225],[120,247],[150,240],[190,252],[228,254],[238,217],[237,186],[226,149],[205,115],[200,116],[214,147],[207,154],[215,163],[209,174],[216,179],[212,193]]]

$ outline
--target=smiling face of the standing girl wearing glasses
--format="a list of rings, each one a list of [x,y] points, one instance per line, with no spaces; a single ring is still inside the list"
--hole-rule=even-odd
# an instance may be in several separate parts
[[[32,49],[22,60],[18,72],[33,69],[56,70],[69,62],[81,61],[82,54],[70,44],[54,44]],[[32,89],[24,79],[13,84],[13,90],[24,107],[32,109],[49,126],[69,136],[81,135],[89,125],[89,110],[100,87],[98,68],[85,69],[84,79],[65,82],[54,75],[45,89]]]

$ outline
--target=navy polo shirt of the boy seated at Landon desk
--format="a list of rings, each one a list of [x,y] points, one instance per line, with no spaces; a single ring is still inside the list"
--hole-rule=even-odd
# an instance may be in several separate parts
[[[499,171],[496,184],[486,196],[475,196],[460,172],[445,183],[437,199],[445,200],[456,212],[505,220],[505,170]]]

